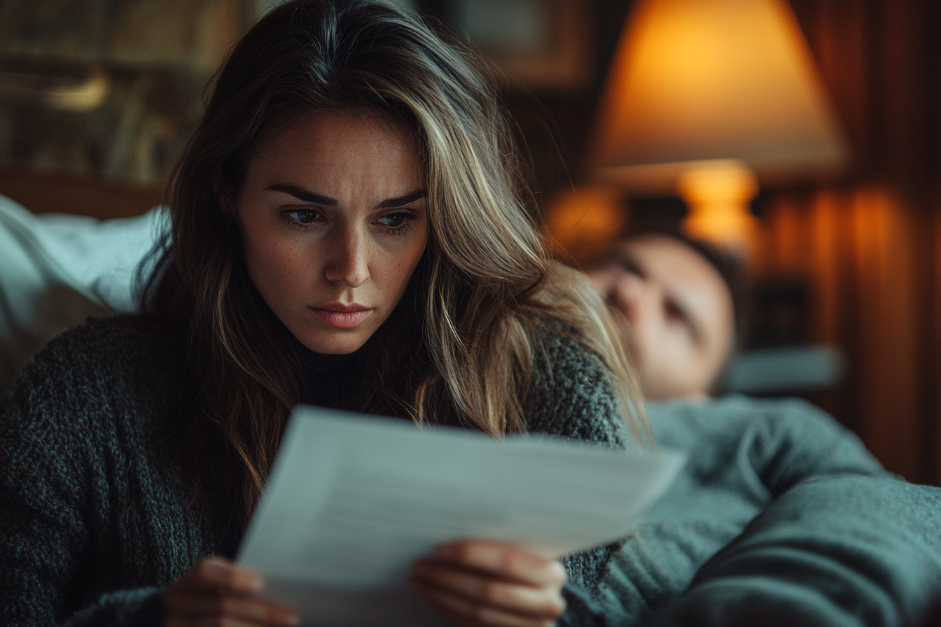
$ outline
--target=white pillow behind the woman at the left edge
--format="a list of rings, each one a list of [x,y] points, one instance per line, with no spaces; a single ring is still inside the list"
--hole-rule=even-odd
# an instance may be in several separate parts
[[[33,215],[0,196],[0,393],[29,355],[93,313],[135,307],[136,266],[167,227],[133,218]]]

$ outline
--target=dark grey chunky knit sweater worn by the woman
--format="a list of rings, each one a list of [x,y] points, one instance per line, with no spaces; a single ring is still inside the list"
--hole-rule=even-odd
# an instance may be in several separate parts
[[[530,431],[623,447],[610,377],[562,336],[536,352]],[[156,625],[160,590],[220,531],[164,447],[176,390],[165,345],[117,321],[56,337],[0,401],[0,616],[7,625]],[[593,588],[606,553],[566,560]]]

